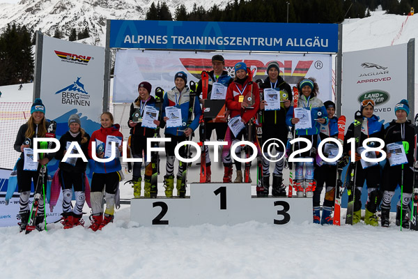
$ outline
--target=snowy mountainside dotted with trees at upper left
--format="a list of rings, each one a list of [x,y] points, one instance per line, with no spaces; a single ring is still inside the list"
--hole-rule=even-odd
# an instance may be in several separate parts
[[[210,9],[214,3],[220,8],[231,0],[198,1],[166,0],[171,15],[176,7],[184,3],[192,10],[194,3]],[[28,29],[40,30],[54,36],[56,27],[68,38],[70,30],[87,27],[91,39],[87,43],[104,46],[106,20],[144,20],[146,12],[156,0],[21,0],[18,3],[1,3],[0,31],[10,22],[25,24]],[[162,2],[162,1],[160,1]]]

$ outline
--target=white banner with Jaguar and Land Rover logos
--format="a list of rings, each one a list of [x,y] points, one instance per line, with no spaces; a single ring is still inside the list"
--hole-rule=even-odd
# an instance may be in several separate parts
[[[374,113],[384,123],[396,119],[394,107],[407,98],[406,86],[407,44],[343,53],[341,102],[347,123],[364,99],[375,101]]]

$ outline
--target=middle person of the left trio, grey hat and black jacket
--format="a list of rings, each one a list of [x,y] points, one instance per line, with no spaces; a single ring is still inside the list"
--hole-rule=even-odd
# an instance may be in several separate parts
[[[86,181],[87,162],[84,162],[82,158],[75,158],[75,162],[68,160],[62,162],[61,160],[68,151],[68,142],[77,142],[84,156],[86,156],[88,153],[88,142],[90,141],[90,135],[81,127],[81,121],[77,114],[70,116],[68,119],[68,127],[70,130],[59,139],[60,149],[55,155],[56,160],[60,161],[58,176],[63,190],[64,229],[81,225],[80,220],[83,217],[83,206],[86,200],[86,185],[84,181]],[[73,187],[75,192],[75,206],[71,210]]]

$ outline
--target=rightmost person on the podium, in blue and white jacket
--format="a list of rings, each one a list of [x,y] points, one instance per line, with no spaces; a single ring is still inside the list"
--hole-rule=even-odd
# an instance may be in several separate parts
[[[326,125],[328,123],[327,110],[325,109],[322,100],[317,98],[318,84],[312,77],[309,79],[300,80],[297,84],[299,89],[299,100],[297,100],[297,107],[302,107],[305,110],[309,110],[311,115],[311,128],[309,129],[296,129],[296,137],[303,137],[312,143],[312,149],[299,154],[299,158],[308,158],[311,162],[297,162],[295,163],[295,185],[297,197],[314,197],[314,162],[316,157],[316,147],[318,146],[318,137],[320,131],[320,125]],[[299,118],[293,116],[293,106],[290,107],[286,114],[286,124],[288,126],[294,126],[300,121]],[[306,147],[304,142],[297,142],[295,150]],[[303,165],[305,164],[306,173],[303,177]]]

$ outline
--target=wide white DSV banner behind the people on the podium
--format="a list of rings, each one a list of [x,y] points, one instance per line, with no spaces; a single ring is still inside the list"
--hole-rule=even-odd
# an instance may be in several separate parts
[[[244,61],[247,67],[256,68],[254,81],[267,77],[266,65],[278,61],[280,75],[291,86],[303,77],[314,77],[320,89],[319,98],[334,100],[332,93],[332,60],[329,54],[254,54],[219,52],[169,52],[118,50],[114,71],[113,100],[116,103],[131,103],[138,97],[138,84],[143,81],[168,91],[174,86],[174,75],[180,70],[187,73],[188,81],[200,80],[202,70],[212,70],[211,58],[222,54],[225,70],[234,77],[234,66]],[[188,84],[187,81],[187,84]],[[151,92],[154,95],[154,92]]]

